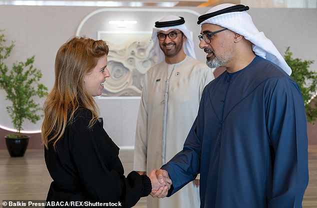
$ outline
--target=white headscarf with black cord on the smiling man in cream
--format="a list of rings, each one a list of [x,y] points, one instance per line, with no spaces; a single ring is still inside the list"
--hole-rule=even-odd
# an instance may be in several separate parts
[[[157,32],[167,31],[169,29],[179,29],[186,36],[186,41],[183,44],[184,52],[186,55],[196,58],[190,31],[187,29],[184,23],[185,20],[183,19],[183,17],[174,15],[164,16],[159,21],[155,22],[155,27],[153,27],[151,38],[153,40],[154,52],[157,55],[157,63],[160,63],[165,59],[163,51],[159,48]]]

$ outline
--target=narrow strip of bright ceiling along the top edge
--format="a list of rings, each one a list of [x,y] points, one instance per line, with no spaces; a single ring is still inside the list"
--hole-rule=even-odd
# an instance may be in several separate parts
[[[220,3],[244,4],[253,8],[317,7],[317,0],[0,0],[0,5],[59,5],[103,7],[210,7]]]

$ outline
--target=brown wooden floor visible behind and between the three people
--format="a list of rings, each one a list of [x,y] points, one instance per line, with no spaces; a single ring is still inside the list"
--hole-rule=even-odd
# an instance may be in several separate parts
[[[302,205],[317,207],[317,145],[309,145],[309,184]],[[120,150],[125,173],[132,170],[133,150]],[[23,157],[10,157],[0,150],[0,201],[44,200],[51,178],[46,170],[43,150],[27,149]],[[149,196],[151,197],[151,196]],[[2,203],[1,207],[2,207]],[[145,198],[134,207],[145,208]],[[190,207],[188,207],[190,208]]]

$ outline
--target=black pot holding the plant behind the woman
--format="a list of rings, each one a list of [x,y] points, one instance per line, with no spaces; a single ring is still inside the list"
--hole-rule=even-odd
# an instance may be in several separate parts
[[[29,136],[23,135],[22,138],[9,138],[5,136],[6,148],[10,156],[23,156],[27,148]]]

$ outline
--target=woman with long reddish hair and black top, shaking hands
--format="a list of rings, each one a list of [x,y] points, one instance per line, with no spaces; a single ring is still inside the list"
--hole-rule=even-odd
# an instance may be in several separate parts
[[[47,202],[131,207],[151,189],[160,188],[156,195],[162,197],[167,194],[170,185],[159,187],[155,172],[150,178],[135,171],[123,175],[119,148],[103,129],[93,96],[101,95],[110,76],[107,53],[105,41],[77,36],[57,51],[55,82],[44,103],[41,127],[45,162],[53,179]]]

